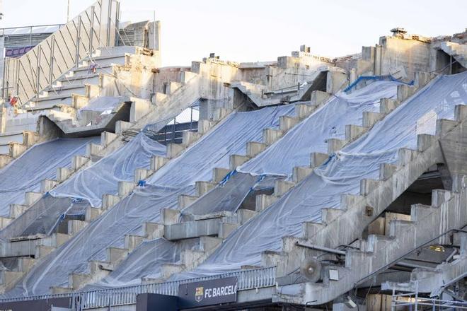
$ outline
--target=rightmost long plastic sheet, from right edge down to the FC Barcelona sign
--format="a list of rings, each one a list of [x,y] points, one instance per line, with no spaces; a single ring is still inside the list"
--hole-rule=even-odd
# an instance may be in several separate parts
[[[263,251],[280,250],[281,237],[299,235],[305,221],[320,221],[321,209],[339,208],[341,194],[358,194],[360,180],[377,179],[381,163],[394,163],[399,148],[416,148],[417,134],[434,134],[434,121],[452,119],[454,106],[466,102],[467,73],[437,78],[275,204],[235,230],[197,269],[174,278],[220,274],[242,265],[260,264]]]

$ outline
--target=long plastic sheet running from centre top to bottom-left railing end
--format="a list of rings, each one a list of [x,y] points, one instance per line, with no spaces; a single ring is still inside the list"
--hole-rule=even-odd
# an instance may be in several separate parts
[[[126,234],[141,235],[142,225],[157,222],[161,209],[177,208],[180,194],[193,194],[196,180],[210,180],[213,168],[228,167],[231,154],[244,153],[246,142],[260,141],[264,127],[277,127],[279,116],[293,112],[290,105],[226,117],[185,153],[156,172],[147,180],[146,187],[138,187],[65,242],[50,259],[47,257],[35,266],[6,295],[38,295],[48,293],[50,286],[68,286],[71,272],[88,271],[88,260],[105,260],[106,248],[122,247]],[[163,252],[166,250],[160,254]]]

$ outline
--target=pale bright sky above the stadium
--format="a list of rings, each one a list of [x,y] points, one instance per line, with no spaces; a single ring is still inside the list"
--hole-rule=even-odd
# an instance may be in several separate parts
[[[0,0],[1,1],[1,0]],[[3,0],[0,28],[65,23],[68,0]],[[70,0],[71,17],[94,0]],[[437,36],[467,28],[466,0],[120,0],[122,20],[161,20],[163,66],[215,52],[231,61],[273,61],[300,45],[338,57],[403,27]]]

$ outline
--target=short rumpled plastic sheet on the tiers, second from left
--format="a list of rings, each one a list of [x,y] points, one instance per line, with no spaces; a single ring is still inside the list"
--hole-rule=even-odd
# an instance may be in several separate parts
[[[55,232],[65,216],[84,215],[88,204],[100,206],[103,194],[117,194],[120,180],[133,181],[136,168],[149,168],[152,155],[165,155],[166,146],[138,134],[105,158],[42,197],[11,223],[0,238]]]

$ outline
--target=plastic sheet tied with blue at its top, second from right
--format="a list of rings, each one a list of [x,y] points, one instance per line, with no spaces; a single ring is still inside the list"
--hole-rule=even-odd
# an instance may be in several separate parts
[[[202,215],[216,211],[236,211],[246,194],[265,175],[292,175],[294,166],[310,163],[310,153],[327,153],[327,139],[345,139],[346,124],[362,124],[364,111],[379,112],[381,98],[395,98],[395,81],[374,81],[351,94],[340,92],[320,109],[287,132],[263,153],[237,168],[239,172],[224,186],[217,187],[183,213]],[[260,175],[256,179],[248,175]],[[263,184],[263,182],[262,182]],[[270,182],[273,187],[273,181]]]

